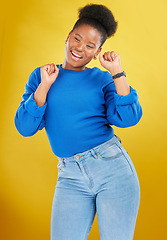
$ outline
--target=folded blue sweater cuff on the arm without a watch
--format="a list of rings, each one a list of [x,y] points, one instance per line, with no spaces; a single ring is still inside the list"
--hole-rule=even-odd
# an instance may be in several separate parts
[[[47,106],[47,102],[39,107],[34,100],[34,93],[30,95],[27,101],[24,103],[25,109],[33,116],[33,117],[42,117],[45,113],[45,109]]]

